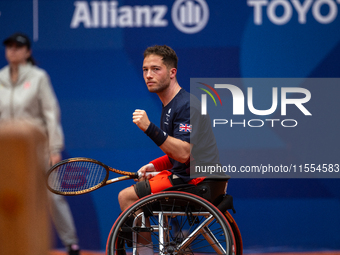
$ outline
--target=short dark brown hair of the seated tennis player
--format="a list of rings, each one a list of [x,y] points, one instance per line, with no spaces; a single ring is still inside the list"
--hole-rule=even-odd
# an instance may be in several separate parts
[[[176,55],[176,52],[171,49],[167,45],[155,45],[152,47],[148,47],[144,51],[144,58],[146,58],[149,55],[158,55],[162,57],[163,63],[168,67],[168,68],[176,68],[177,69],[177,62],[178,62],[178,57]]]

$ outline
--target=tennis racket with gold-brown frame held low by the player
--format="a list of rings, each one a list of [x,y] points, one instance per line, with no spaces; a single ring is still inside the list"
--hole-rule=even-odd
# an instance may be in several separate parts
[[[108,180],[109,173],[123,176]],[[155,176],[159,172],[148,172]],[[138,172],[126,172],[109,167],[102,162],[90,158],[69,158],[51,167],[47,173],[47,187],[53,193],[72,196],[81,195],[105,185],[140,178]]]

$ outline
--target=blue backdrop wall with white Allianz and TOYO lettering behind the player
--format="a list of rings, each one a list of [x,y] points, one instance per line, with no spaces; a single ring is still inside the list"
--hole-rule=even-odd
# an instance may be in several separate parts
[[[51,77],[64,157],[95,158],[128,171],[163,155],[132,123],[137,108],[156,123],[161,113],[142,78],[146,47],[175,49],[178,81],[187,90],[195,77],[329,78],[340,76],[339,29],[338,0],[0,0],[0,39],[27,33],[38,65]],[[273,129],[251,143],[239,129],[223,157],[280,165],[282,158],[311,164],[320,156],[322,163],[340,163],[340,87],[311,91],[311,111],[323,119],[291,133]],[[245,251],[339,250],[339,180],[232,179],[228,192]],[[119,214],[118,192],[132,183],[68,198],[83,249],[105,249]]]

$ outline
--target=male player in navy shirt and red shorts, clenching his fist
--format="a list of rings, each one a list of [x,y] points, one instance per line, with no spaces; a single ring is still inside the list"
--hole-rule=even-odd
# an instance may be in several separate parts
[[[220,164],[210,118],[201,115],[199,100],[178,84],[177,62],[175,51],[166,45],[149,47],[144,52],[143,77],[148,90],[156,93],[163,104],[161,121],[157,127],[144,110],[137,109],[133,113],[133,122],[165,155],[138,171],[144,177],[147,172],[160,172],[158,175],[143,178],[119,193],[122,211],[147,195],[177,185],[202,182],[205,177],[190,175],[190,167],[194,169],[195,164]],[[153,254],[153,250],[140,247],[138,254]]]

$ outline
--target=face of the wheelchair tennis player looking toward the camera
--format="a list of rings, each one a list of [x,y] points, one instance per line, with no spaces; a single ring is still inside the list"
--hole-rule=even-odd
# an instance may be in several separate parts
[[[149,55],[144,58],[143,77],[150,92],[160,93],[170,86],[170,70],[161,56]]]

